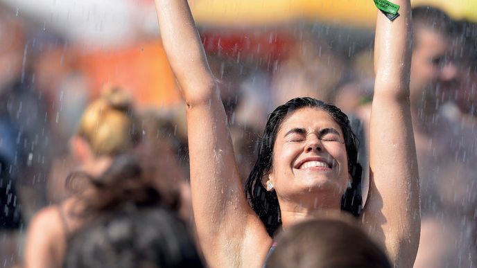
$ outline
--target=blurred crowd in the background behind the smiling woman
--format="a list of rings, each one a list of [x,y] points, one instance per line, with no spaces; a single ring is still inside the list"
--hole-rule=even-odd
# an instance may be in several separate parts
[[[413,19],[415,267],[474,267],[477,24],[428,6]],[[159,37],[90,51],[35,25],[0,6],[0,265],[201,267],[185,110]],[[355,118],[366,161],[372,30],[299,21],[200,33],[243,181],[268,113],[296,96]]]

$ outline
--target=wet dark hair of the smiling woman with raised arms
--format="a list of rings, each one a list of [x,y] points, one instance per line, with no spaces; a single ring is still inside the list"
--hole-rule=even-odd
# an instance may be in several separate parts
[[[335,105],[314,98],[293,98],[280,105],[268,116],[268,120],[258,146],[258,157],[245,183],[245,195],[252,209],[265,224],[268,235],[272,236],[281,225],[280,206],[275,190],[268,191],[262,184],[262,178],[272,168],[273,146],[277,133],[284,119],[298,109],[313,107],[326,111],[340,125],[345,138],[349,174],[352,176],[352,187],[342,197],[341,210],[358,216],[362,210],[361,172],[358,163],[358,141],[354,135],[349,119]]]

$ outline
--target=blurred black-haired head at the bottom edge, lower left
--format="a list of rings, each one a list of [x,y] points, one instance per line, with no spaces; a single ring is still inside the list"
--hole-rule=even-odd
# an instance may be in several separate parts
[[[69,240],[64,268],[203,267],[182,221],[163,208],[103,215]]]

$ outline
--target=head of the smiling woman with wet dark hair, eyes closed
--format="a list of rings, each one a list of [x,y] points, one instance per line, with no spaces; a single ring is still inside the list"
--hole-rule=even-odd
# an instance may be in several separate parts
[[[358,186],[361,184],[362,168],[357,163],[357,157],[356,137],[346,114],[320,100],[295,98],[277,107],[268,116],[257,162],[245,184],[245,195],[269,235],[277,231],[282,221],[292,220],[286,213],[281,213],[289,211],[290,207],[312,210],[318,206],[341,208],[359,215],[362,198]],[[306,168],[315,165],[312,161],[327,163],[330,169]],[[292,179],[300,173],[302,177],[308,177],[306,182]],[[295,185],[282,185],[282,176],[277,175],[284,175],[284,182],[291,180]],[[318,181],[310,177],[318,177]],[[267,188],[263,186],[265,181]],[[334,187],[326,183],[331,181]],[[328,187],[322,187],[324,185]],[[350,187],[347,188],[347,185]],[[288,195],[293,195],[293,192],[300,194],[304,190],[314,192],[308,204],[303,204],[305,200],[302,198],[297,199],[302,204],[300,206],[284,202]],[[292,193],[288,193],[290,191]],[[284,196],[281,196],[282,193]],[[279,204],[285,204],[286,208],[281,208]]]

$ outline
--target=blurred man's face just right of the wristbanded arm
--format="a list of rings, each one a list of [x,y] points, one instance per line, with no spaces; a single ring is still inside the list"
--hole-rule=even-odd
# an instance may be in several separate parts
[[[449,48],[448,37],[435,30],[417,28],[410,73],[410,98],[413,106],[435,96],[437,82],[445,70],[444,56]]]

